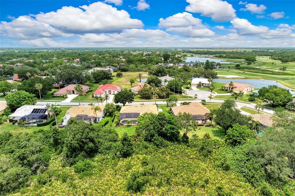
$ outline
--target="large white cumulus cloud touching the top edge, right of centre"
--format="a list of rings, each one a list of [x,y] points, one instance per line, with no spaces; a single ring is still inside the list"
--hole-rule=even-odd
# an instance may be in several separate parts
[[[193,13],[201,13],[201,16],[211,17],[213,21],[225,22],[236,18],[232,4],[221,0],[186,0],[189,3],[185,10]]]

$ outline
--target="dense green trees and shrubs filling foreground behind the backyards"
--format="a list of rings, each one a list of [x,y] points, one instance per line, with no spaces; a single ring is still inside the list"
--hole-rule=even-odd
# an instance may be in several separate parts
[[[131,136],[76,119],[62,129],[1,133],[1,195],[292,195],[294,116],[277,110],[273,127],[256,136],[232,104],[214,112],[228,110],[215,117],[226,131],[218,139],[186,138],[198,127],[184,130],[168,112],[139,117]]]

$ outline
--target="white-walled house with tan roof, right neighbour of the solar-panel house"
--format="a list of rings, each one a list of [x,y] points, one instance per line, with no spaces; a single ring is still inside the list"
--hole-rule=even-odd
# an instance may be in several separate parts
[[[76,118],[77,120],[83,120],[84,122],[97,123],[101,121],[106,114],[104,105],[100,105],[99,107],[101,111],[96,111],[96,113],[90,105],[79,105],[71,107],[65,113],[62,124],[66,125],[70,118]]]

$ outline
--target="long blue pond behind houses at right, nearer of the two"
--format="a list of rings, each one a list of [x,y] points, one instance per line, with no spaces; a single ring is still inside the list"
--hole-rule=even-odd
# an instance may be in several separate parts
[[[267,87],[268,85],[277,85],[278,87],[282,87],[284,89],[289,89],[290,91],[293,89],[290,89],[288,87],[285,87],[283,84],[276,82],[276,80],[266,80],[266,79],[224,79],[224,78],[217,78],[213,79],[213,82],[220,82],[220,83],[229,83],[232,82],[238,82],[242,84],[250,84],[251,86],[255,88],[262,88]]]

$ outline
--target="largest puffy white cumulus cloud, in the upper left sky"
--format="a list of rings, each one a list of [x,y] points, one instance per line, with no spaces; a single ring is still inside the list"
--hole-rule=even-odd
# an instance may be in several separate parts
[[[131,19],[125,10],[118,10],[103,2],[95,2],[79,8],[64,6],[57,11],[37,14],[36,20],[50,24],[64,32],[91,33],[112,32],[141,28],[142,21]]]

